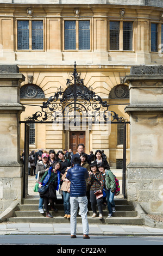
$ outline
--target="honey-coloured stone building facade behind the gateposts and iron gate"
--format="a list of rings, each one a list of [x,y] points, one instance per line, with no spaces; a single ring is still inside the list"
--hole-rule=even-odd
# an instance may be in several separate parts
[[[20,120],[27,120],[39,111],[38,105],[42,105],[60,86],[63,90],[67,88],[66,81],[70,78],[74,61],[84,85],[90,86],[110,104],[110,111],[130,120],[129,112],[124,108],[140,95],[129,95],[130,82],[124,78],[134,65],[162,64],[162,1],[136,2],[0,1],[0,64],[17,65],[25,77],[21,82],[20,102],[26,110],[21,113]],[[102,135],[99,129],[87,128],[84,131],[80,128],[65,131],[64,127],[54,130],[50,124],[35,124],[30,127],[30,150],[68,149],[72,137],[79,141],[81,132],[86,153],[104,149],[110,166],[121,168],[121,125],[111,125],[111,131],[106,135]],[[23,148],[24,126],[21,124],[21,151]],[[129,163],[130,126],[127,125]]]

